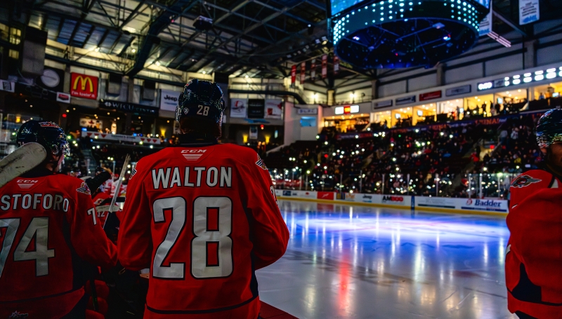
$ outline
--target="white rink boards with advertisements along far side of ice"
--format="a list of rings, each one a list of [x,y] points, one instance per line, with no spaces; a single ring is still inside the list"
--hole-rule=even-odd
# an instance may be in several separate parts
[[[335,203],[354,203],[388,208],[411,208],[443,212],[478,212],[494,215],[507,214],[508,201],[480,198],[448,198],[407,195],[381,195],[360,193],[336,193],[334,191],[293,191],[276,189],[275,196],[280,199],[327,201]]]

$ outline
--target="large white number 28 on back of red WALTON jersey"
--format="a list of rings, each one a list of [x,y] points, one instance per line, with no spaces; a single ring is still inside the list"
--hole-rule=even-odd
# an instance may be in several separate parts
[[[152,205],[155,223],[165,222],[164,212],[171,211],[171,221],[164,241],[158,246],[152,264],[152,276],[162,279],[185,278],[185,263],[164,259],[176,244],[185,226],[187,205],[182,197],[158,199]],[[191,241],[191,275],[194,278],[222,278],[233,272],[232,231],[233,204],[228,197],[199,197],[193,202]]]

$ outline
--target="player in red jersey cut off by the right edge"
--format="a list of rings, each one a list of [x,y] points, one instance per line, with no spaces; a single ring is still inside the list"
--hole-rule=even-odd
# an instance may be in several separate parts
[[[511,182],[507,305],[519,318],[562,318],[562,110],[536,129],[544,161]]]

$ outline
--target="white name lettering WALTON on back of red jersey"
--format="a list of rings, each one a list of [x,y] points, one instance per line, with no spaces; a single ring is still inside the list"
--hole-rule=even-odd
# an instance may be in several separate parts
[[[154,189],[169,189],[176,186],[201,187],[202,183],[209,187],[232,186],[233,168],[155,168],[152,170],[152,185]]]

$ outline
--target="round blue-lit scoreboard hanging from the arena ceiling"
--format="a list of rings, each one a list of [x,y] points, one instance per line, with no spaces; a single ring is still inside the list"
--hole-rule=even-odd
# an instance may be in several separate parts
[[[433,67],[472,48],[487,13],[476,0],[361,1],[329,25],[336,55],[354,67]]]

